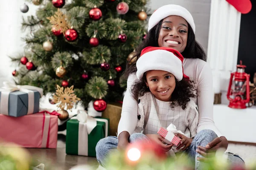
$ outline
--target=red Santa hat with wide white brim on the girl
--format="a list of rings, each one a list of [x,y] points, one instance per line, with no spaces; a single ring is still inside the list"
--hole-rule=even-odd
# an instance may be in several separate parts
[[[180,81],[189,79],[183,73],[183,56],[179,51],[169,47],[146,47],[141,51],[137,60],[137,77],[142,79],[143,74],[150,70],[163,70],[172,73]]]

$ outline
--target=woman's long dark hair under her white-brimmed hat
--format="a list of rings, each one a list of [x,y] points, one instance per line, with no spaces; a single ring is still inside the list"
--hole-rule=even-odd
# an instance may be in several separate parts
[[[137,59],[140,57],[141,51],[148,46],[158,47],[158,37],[159,37],[162,23],[163,23],[163,20],[161,20],[156,26],[154,26],[153,28],[151,28],[148,31],[148,34],[147,34],[145,40],[143,40],[143,42],[136,49],[136,54],[134,55],[134,57],[132,57],[127,62],[126,69],[124,72],[124,77],[126,79],[128,78],[128,76],[131,73],[135,73],[137,71],[136,62],[137,62]],[[198,58],[198,59],[202,59],[202,60],[206,61],[207,57],[206,57],[206,54],[205,54],[203,48],[195,40],[195,34],[194,34],[191,26],[189,24],[188,24],[188,26],[189,26],[188,39],[187,39],[186,48],[181,53],[182,56],[184,58]],[[134,58],[135,58],[135,61],[132,62],[131,64],[129,64],[130,61]]]

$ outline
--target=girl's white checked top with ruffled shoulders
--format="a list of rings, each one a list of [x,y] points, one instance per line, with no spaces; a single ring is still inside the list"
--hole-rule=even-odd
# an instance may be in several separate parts
[[[167,129],[172,123],[188,138],[195,137],[198,126],[198,108],[192,100],[185,110],[181,106],[170,107],[171,102],[156,99],[151,92],[138,99],[137,125],[134,133],[157,134],[160,127]]]

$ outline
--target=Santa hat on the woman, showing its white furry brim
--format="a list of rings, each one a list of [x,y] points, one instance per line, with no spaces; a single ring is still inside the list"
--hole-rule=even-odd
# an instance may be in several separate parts
[[[161,6],[156,11],[154,11],[154,13],[151,15],[151,17],[148,20],[148,31],[154,26],[156,26],[157,23],[160,22],[160,20],[163,20],[164,18],[171,15],[177,15],[177,16],[183,17],[192,27],[192,30],[195,34],[195,23],[190,12],[186,8],[183,8],[182,6],[173,5],[173,4]]]

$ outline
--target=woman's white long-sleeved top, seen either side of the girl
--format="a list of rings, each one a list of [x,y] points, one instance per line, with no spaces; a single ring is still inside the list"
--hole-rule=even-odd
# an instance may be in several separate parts
[[[192,101],[198,105],[199,122],[197,133],[204,129],[213,130],[218,136],[222,136],[213,122],[213,88],[212,71],[207,62],[201,59],[184,59],[184,74],[195,82],[198,97]],[[137,125],[138,103],[132,97],[131,85],[137,80],[135,74],[131,74],[127,80],[127,90],[123,99],[122,114],[118,125],[118,135],[128,131],[131,135]]]

